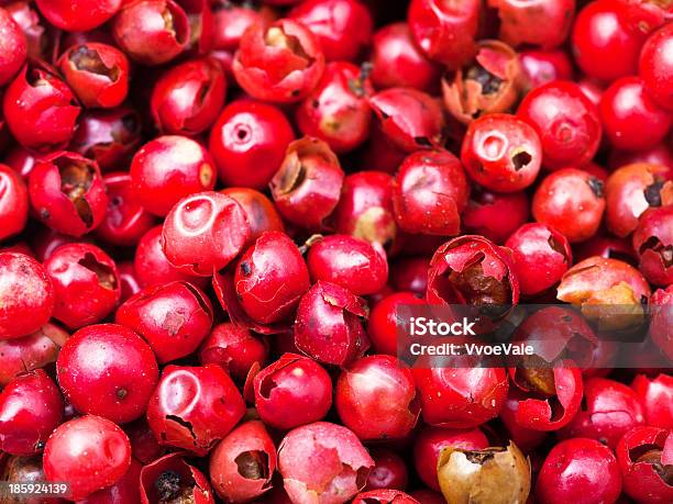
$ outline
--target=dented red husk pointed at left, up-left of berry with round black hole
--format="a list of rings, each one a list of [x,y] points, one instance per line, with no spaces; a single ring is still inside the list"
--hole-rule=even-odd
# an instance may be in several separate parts
[[[388,88],[369,98],[385,138],[405,153],[441,147],[442,109],[430,94],[413,88]]]

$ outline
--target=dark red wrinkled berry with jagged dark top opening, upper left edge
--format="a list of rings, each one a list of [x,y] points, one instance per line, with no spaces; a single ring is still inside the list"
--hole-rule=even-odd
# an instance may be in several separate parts
[[[29,61],[4,92],[4,121],[14,138],[32,150],[65,147],[80,111],[68,85],[40,61]]]

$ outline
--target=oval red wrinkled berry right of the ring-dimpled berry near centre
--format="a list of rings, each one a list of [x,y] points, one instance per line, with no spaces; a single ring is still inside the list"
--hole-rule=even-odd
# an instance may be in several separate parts
[[[293,315],[310,280],[297,245],[285,233],[268,232],[236,264],[234,285],[245,313],[272,324]]]

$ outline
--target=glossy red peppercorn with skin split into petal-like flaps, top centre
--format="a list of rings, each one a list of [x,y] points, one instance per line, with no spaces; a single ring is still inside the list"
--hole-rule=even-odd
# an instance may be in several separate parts
[[[297,48],[286,41],[293,37]],[[308,27],[291,19],[251,25],[234,55],[239,86],[257,100],[291,103],[305,99],[324,71],[324,54]]]

